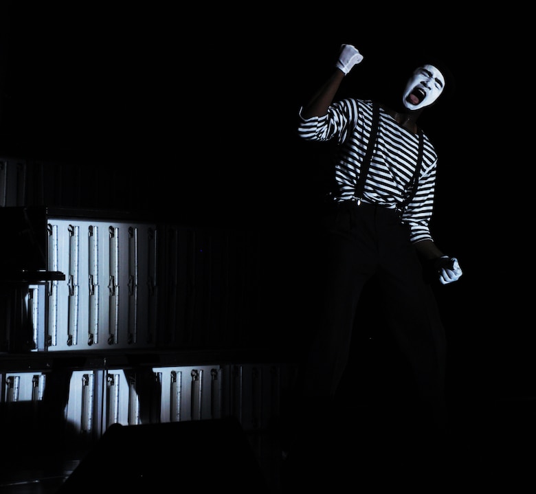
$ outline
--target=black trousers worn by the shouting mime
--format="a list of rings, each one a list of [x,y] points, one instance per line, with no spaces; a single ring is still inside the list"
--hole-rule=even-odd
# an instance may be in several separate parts
[[[360,329],[358,302],[374,277],[386,324],[410,366],[422,423],[442,427],[445,410],[445,330],[434,291],[396,212],[366,203],[329,205],[324,215],[326,256],[318,323],[300,366],[295,398],[303,418],[331,406]],[[323,262],[323,261],[320,261]],[[380,319],[380,318],[379,318]],[[309,407],[309,409],[305,409]],[[323,413],[323,412],[322,412]]]

